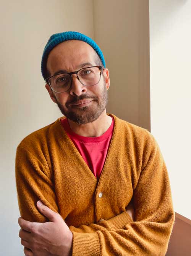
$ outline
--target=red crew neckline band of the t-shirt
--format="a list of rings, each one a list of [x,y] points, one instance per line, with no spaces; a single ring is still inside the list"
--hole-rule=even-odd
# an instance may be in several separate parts
[[[80,142],[85,142],[85,143],[101,142],[101,141],[107,139],[108,136],[110,136],[111,133],[113,132],[113,127],[114,127],[114,118],[112,117],[112,123],[111,123],[110,127],[106,130],[106,132],[104,132],[104,134],[102,134],[99,137],[85,137],[85,136],[81,136],[81,135],[73,132],[73,130],[70,128],[70,124],[69,124],[67,118],[62,119],[61,122],[62,122],[64,129],[68,135],[70,135],[71,137],[73,137],[74,139],[76,139]]]

